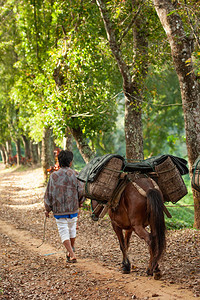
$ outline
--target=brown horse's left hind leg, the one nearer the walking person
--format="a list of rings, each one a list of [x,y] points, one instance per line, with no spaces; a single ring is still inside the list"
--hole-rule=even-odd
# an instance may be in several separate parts
[[[131,264],[127,256],[127,245],[124,239],[124,235],[122,232],[122,229],[118,227],[116,224],[112,223],[113,229],[118,237],[120,249],[123,254],[123,261],[122,261],[122,272],[124,274],[130,273],[131,270]]]

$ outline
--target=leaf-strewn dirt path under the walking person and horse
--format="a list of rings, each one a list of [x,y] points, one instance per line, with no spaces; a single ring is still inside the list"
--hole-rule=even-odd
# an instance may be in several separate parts
[[[41,245],[43,192],[41,169],[0,171],[0,299],[200,298],[198,231],[170,235],[167,257],[161,264],[166,269],[162,280],[155,281],[144,277],[148,251],[141,241],[133,238],[131,244],[130,252],[136,253],[131,274],[121,274],[121,253],[109,220],[94,223],[82,211],[76,241],[78,263],[67,264],[53,217],[47,220],[46,240]],[[183,233],[190,240],[186,249],[190,260],[185,257],[186,244],[181,246],[183,257],[175,255],[185,240],[181,240]]]

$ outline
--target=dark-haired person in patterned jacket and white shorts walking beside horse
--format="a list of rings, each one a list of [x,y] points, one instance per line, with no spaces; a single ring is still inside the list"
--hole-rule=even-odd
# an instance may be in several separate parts
[[[67,260],[76,262],[74,244],[84,183],[77,179],[78,173],[71,169],[73,161],[71,151],[62,150],[58,155],[58,161],[60,169],[50,175],[44,195],[45,215],[49,217],[49,213],[53,212],[61,241],[68,251]]]

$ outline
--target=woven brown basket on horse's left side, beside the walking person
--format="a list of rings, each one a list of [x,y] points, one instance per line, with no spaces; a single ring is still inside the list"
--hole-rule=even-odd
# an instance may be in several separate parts
[[[121,159],[111,158],[96,180],[85,184],[86,197],[103,203],[110,201],[119,182],[122,165],[123,161]]]

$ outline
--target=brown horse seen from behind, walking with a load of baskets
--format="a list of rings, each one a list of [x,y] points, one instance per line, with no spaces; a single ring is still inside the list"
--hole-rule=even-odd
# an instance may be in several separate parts
[[[134,231],[141,239],[145,240],[149,247],[150,261],[147,274],[154,275],[155,279],[159,279],[161,272],[158,260],[166,244],[163,196],[158,186],[155,186],[155,182],[150,178],[139,178],[134,182],[127,184],[118,206],[108,210],[123,254],[122,270],[123,273],[130,273],[131,270],[127,251],[131,234]],[[91,203],[94,209],[97,202],[92,200]],[[146,230],[148,225],[150,233]],[[125,230],[125,236],[123,230]]]

